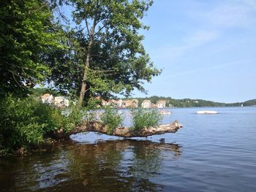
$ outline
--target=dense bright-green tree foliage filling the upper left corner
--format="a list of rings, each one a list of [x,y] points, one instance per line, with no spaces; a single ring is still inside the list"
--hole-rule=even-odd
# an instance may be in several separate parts
[[[59,49],[49,4],[44,0],[4,0],[0,4],[0,94],[26,96],[50,74],[48,52]]]

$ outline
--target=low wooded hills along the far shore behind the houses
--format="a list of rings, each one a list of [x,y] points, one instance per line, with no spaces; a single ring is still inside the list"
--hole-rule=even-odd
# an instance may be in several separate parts
[[[158,100],[165,100],[166,107],[235,107],[235,106],[252,106],[256,105],[256,99],[252,99],[244,102],[237,103],[220,103],[214,101],[206,101],[203,99],[172,99],[171,97],[163,96],[151,96],[146,98],[129,98],[129,99],[138,99],[139,106],[143,100],[148,99],[152,104],[156,104]],[[124,99],[125,100],[125,99]]]

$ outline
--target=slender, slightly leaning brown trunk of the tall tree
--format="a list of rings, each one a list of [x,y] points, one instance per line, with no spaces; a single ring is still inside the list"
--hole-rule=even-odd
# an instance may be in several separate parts
[[[84,64],[83,81],[82,81],[80,96],[79,96],[79,100],[78,100],[78,106],[79,107],[82,107],[83,99],[84,99],[84,96],[86,94],[87,71],[88,71],[89,66],[90,66],[91,46],[94,42],[94,29],[95,29],[96,23],[97,23],[97,19],[94,18],[93,26],[91,26],[91,34],[90,34],[89,45],[87,47],[86,62]]]

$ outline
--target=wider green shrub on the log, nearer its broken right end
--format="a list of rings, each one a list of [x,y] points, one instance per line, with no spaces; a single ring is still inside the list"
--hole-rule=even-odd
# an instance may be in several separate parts
[[[157,110],[135,109],[132,110],[132,131],[140,131],[142,128],[158,126],[162,120],[162,115],[158,114]]]

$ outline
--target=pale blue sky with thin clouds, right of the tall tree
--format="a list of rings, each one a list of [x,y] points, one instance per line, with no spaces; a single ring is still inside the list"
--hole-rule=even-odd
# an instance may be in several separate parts
[[[155,0],[143,23],[162,74],[133,96],[256,99],[256,0]]]

